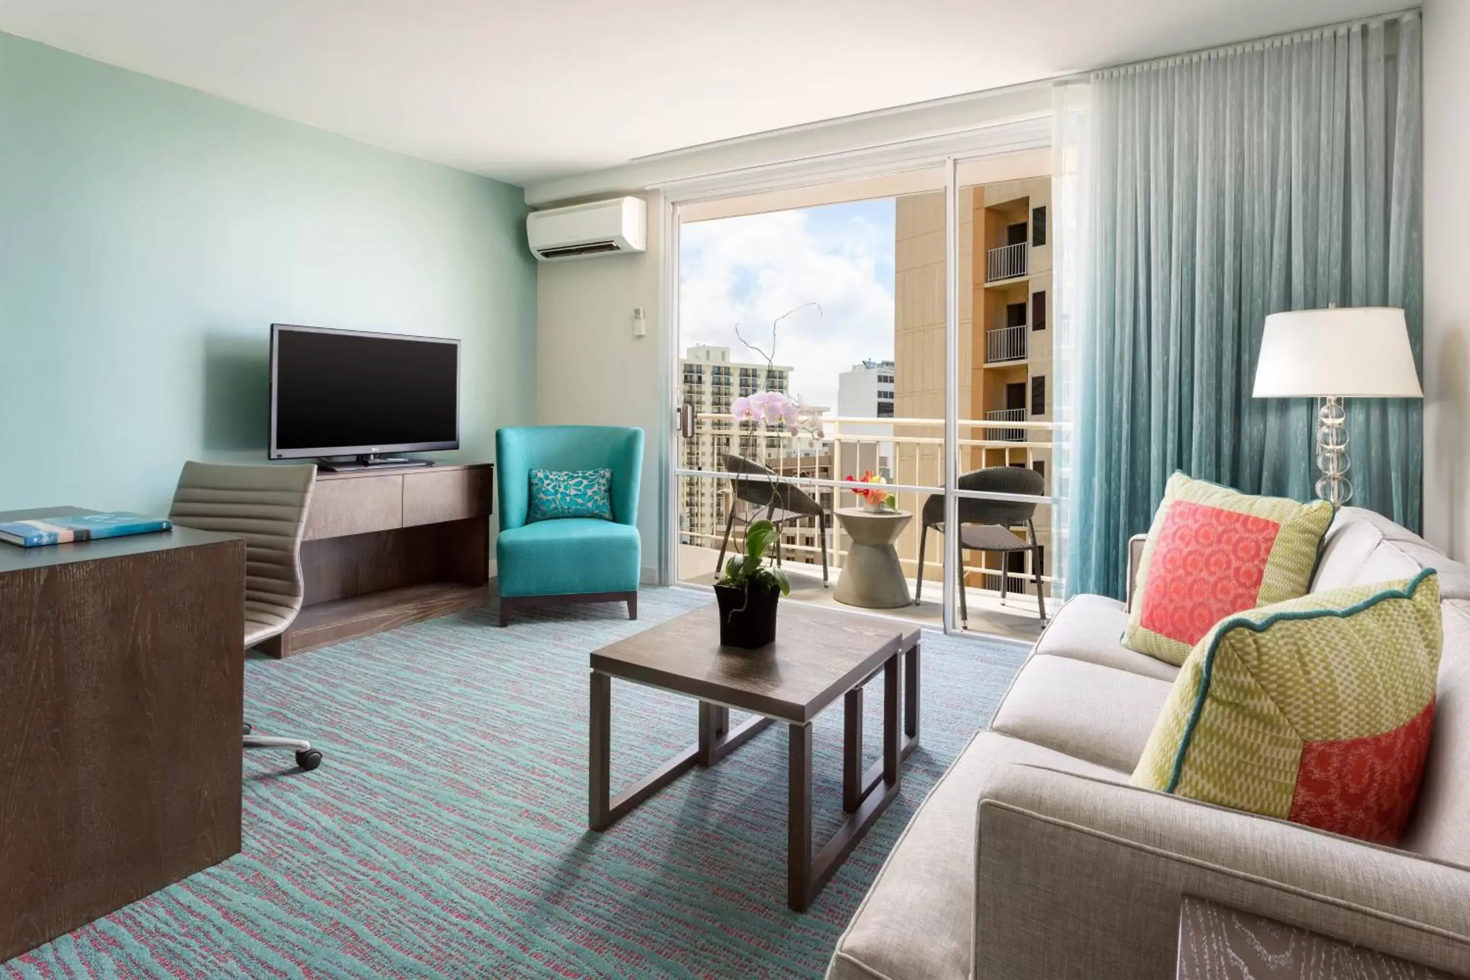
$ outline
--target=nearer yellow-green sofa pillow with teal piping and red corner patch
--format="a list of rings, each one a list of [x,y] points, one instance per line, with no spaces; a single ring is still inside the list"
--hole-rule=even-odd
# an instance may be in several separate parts
[[[1185,660],[1132,783],[1395,843],[1441,644],[1432,569],[1232,616]]]

